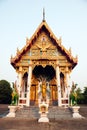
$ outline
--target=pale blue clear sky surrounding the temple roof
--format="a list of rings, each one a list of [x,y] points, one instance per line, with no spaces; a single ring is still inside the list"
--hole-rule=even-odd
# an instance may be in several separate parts
[[[78,87],[87,86],[87,0],[0,0],[0,80],[16,80],[10,57],[41,23],[43,7],[55,36],[62,37],[65,48],[72,48],[73,56],[78,55],[71,80]]]

